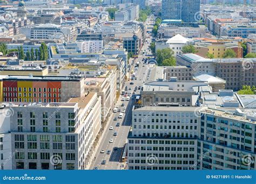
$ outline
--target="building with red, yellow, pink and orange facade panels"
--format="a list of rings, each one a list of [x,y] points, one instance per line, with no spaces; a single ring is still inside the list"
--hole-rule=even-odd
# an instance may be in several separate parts
[[[82,77],[63,76],[2,76],[2,102],[66,102],[84,94]]]

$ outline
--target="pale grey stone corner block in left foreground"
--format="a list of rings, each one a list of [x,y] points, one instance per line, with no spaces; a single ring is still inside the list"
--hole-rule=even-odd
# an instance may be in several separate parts
[[[10,103],[3,110],[11,115],[1,121],[5,157],[11,168],[3,169],[84,169],[94,151],[100,130],[100,98],[96,93],[71,98],[67,103]],[[5,120],[5,119],[4,119]],[[10,136],[11,135],[11,136]],[[10,143],[4,141],[8,136]],[[1,139],[0,139],[1,140]],[[6,150],[9,153],[6,154]]]

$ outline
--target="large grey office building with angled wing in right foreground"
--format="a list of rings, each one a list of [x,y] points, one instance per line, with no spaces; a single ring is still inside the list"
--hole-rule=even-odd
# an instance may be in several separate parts
[[[255,104],[256,96],[220,90],[201,92],[201,107],[134,108],[128,168],[255,169],[256,114],[249,101]]]

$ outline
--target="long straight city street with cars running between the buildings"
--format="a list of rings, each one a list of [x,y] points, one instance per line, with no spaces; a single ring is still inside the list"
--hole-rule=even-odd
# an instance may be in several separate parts
[[[147,20],[147,23],[149,23],[149,19]],[[151,33],[151,30],[147,29],[146,31],[150,31]],[[145,42],[141,51],[147,50],[151,43],[151,35],[147,34],[146,37],[148,37],[146,38],[148,42]],[[151,54],[151,52],[148,51],[147,54]],[[139,55],[137,59],[134,59],[134,65],[139,62],[138,71],[136,72],[137,80],[130,80],[125,82],[125,86],[127,86],[127,90],[125,90],[125,92],[127,93],[129,93],[129,91],[131,91],[132,93],[134,87],[139,87],[143,84],[147,69],[146,64],[144,64],[144,61],[142,61],[143,58],[146,59],[147,56],[143,54]],[[131,66],[131,70],[134,70],[134,65]],[[134,84],[130,84],[131,82],[133,82]],[[118,105],[118,111],[122,111],[124,107],[126,108],[124,117],[118,118],[120,112],[111,112],[110,121],[106,126],[102,141],[100,141],[99,146],[96,150],[96,159],[92,161],[90,169],[121,169],[125,166],[125,163],[120,162],[120,160],[122,157],[124,145],[127,141],[127,135],[131,128],[132,107],[135,103],[136,95],[138,94],[140,94],[139,89],[137,89],[135,94],[131,95],[131,97],[133,97],[133,100],[130,99],[130,101],[126,101],[127,97],[120,95],[116,106]],[[121,101],[123,97],[125,98],[125,101]],[[122,104],[124,104],[124,107],[122,107]],[[117,120],[114,120],[114,118],[116,118]],[[117,123],[120,123],[120,126],[116,126]],[[111,126],[113,126],[113,130],[110,130]],[[117,133],[117,136],[113,136],[114,132]],[[112,139],[113,142],[110,141],[110,139]],[[114,147],[117,148],[114,150]],[[101,153],[103,152],[102,150],[104,150],[104,153]],[[111,151],[111,153],[107,154],[107,151]],[[105,164],[102,164],[103,160],[105,160]]]

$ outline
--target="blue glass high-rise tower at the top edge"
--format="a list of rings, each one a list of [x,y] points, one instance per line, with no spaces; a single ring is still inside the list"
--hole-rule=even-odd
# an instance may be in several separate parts
[[[195,17],[200,15],[199,11],[200,0],[162,1],[162,19],[183,20],[185,23],[197,22]]]

